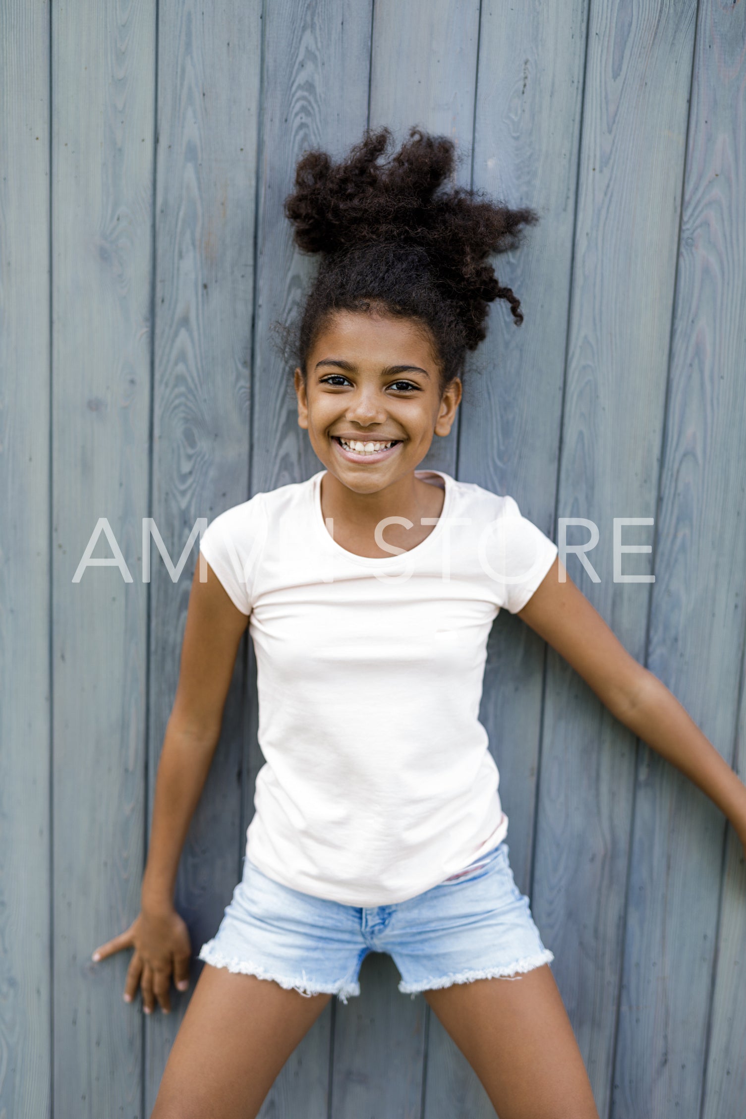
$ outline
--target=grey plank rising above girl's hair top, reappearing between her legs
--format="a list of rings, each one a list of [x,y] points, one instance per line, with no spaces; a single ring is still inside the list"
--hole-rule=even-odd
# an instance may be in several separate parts
[[[471,182],[471,147],[479,43],[479,2],[438,0],[403,4],[377,0],[374,12],[370,125],[386,125],[400,142],[413,125],[456,141],[454,181]],[[433,436],[422,469],[455,476],[459,426]],[[419,1115],[422,1097],[423,999],[403,998],[390,981],[395,971],[371,967],[359,1006],[340,1007],[334,1043],[332,1115]],[[386,988],[381,984],[387,982]],[[355,1023],[355,1027],[350,1024]],[[384,1023],[395,1022],[391,1034]],[[431,1033],[441,1031],[433,1019]],[[398,1068],[408,1070],[406,1093],[397,1094],[391,1078],[391,1040]],[[404,1072],[402,1073],[404,1075]],[[394,1110],[391,1110],[394,1109]]]

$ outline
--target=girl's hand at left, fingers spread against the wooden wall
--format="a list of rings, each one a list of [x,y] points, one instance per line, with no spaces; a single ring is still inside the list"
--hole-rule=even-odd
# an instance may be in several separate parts
[[[138,987],[142,990],[142,1008],[151,1014],[155,1000],[168,1014],[171,976],[178,990],[189,986],[191,943],[186,923],[172,906],[144,910],[130,928],[97,948],[93,959],[97,963],[125,948],[134,948],[124,985],[124,1002],[131,1003]]]

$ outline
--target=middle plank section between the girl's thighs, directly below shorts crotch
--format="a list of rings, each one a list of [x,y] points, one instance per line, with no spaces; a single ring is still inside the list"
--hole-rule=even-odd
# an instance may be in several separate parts
[[[360,995],[337,1007],[333,1116],[419,1119],[426,1005],[399,995],[398,979],[390,957],[368,956]]]

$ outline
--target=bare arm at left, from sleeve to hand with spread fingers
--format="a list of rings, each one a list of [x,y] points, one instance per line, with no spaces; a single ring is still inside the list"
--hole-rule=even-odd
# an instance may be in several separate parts
[[[207,582],[199,582],[197,564],[179,684],[158,764],[141,912],[125,932],[93,956],[98,961],[134,948],[124,998],[130,1002],[141,986],[145,1013],[154,1008],[155,998],[163,1010],[170,1009],[171,975],[180,989],[188,986],[189,934],[173,909],[173,888],[189,822],[220,735],[223,708],[247,622],[209,565]]]

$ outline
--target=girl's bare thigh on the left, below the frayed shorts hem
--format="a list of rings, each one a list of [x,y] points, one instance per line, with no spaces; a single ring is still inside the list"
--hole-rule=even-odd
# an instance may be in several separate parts
[[[330,995],[205,966],[151,1119],[254,1119]]]

